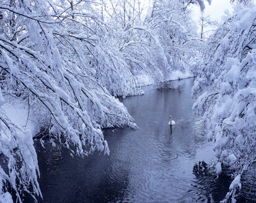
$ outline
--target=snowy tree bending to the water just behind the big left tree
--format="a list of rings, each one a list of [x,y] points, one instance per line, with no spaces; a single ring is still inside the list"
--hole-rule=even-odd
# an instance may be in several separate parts
[[[133,14],[130,13],[131,9]],[[136,60],[123,53],[127,46],[132,46],[136,52],[139,49],[136,45],[141,41],[133,40],[139,36],[135,32],[138,29],[137,20],[131,17],[137,15],[134,6],[131,8],[131,2],[127,0],[99,1],[92,7],[91,13],[94,17],[100,16],[96,23],[90,23],[90,28],[95,27],[99,37],[97,45],[91,49],[95,77],[114,96],[141,94],[130,64],[130,61]]]

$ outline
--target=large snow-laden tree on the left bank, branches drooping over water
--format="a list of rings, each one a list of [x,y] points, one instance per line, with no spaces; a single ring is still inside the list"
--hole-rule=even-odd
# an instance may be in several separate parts
[[[109,153],[101,127],[135,127],[125,106],[97,78],[102,66],[111,69],[117,63],[117,74],[123,67],[101,43],[103,22],[90,11],[93,7],[90,1],[0,2],[0,153],[7,167],[0,167],[3,202],[11,202],[7,185],[19,202],[23,192],[41,196],[32,134],[12,123],[4,103],[27,103],[28,119],[50,134],[53,146],[59,140],[81,156],[95,150]],[[119,79],[126,88],[121,93],[131,92],[126,78]]]

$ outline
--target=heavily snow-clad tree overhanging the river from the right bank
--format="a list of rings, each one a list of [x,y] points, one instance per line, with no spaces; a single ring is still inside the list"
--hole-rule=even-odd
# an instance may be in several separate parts
[[[209,122],[213,167],[233,181],[223,202],[236,202],[241,176],[256,162],[256,8],[227,19],[208,41],[193,86],[196,113]]]

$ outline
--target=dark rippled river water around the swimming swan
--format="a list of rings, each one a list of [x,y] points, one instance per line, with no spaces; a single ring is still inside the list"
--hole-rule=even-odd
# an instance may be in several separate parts
[[[38,202],[219,202],[228,181],[193,175],[195,163],[210,162],[200,118],[192,112],[193,79],[182,89],[156,90],[123,100],[139,129],[107,129],[110,155],[72,158],[66,149],[36,142],[43,193]],[[176,82],[176,83],[177,83]],[[169,115],[175,125],[170,134]],[[25,199],[24,202],[33,202]]]

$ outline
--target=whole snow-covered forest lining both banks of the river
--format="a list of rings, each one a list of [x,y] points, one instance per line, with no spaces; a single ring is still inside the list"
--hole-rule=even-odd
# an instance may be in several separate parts
[[[0,0],[0,202],[42,196],[33,139],[107,157],[102,129],[138,128],[120,98],[187,77],[213,173],[232,171],[223,202],[236,202],[256,162],[256,7],[232,3],[209,34],[192,16],[211,0]]]

